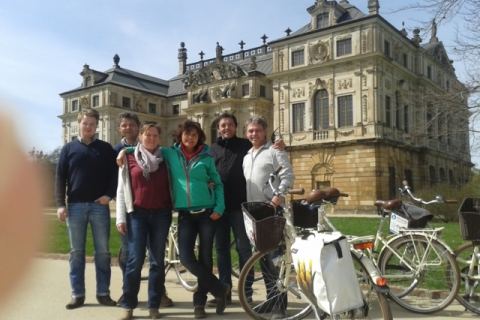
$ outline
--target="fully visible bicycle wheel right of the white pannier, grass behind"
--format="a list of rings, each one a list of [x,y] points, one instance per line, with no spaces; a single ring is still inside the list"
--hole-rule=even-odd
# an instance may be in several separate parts
[[[442,243],[422,235],[404,235],[388,246],[378,265],[397,304],[412,312],[432,313],[453,301],[460,276],[455,257]]]

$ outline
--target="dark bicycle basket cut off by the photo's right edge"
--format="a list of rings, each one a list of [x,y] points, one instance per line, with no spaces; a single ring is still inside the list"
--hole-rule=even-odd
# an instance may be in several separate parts
[[[480,198],[465,198],[458,210],[464,240],[480,240]]]

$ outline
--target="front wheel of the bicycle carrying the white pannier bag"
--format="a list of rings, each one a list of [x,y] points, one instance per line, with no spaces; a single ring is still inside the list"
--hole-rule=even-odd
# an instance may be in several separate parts
[[[312,311],[297,287],[291,261],[287,262],[285,258],[285,248],[255,252],[243,267],[238,280],[238,296],[250,318],[296,320]],[[290,272],[287,286],[284,286],[285,271]],[[254,281],[252,284],[253,294],[246,290],[250,272],[255,274],[254,278],[261,277],[263,273],[263,281]]]

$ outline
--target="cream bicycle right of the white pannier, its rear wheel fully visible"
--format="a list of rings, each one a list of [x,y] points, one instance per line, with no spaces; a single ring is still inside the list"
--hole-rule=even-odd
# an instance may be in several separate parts
[[[400,190],[402,195],[409,195],[423,205],[446,202],[440,196],[430,201],[416,198],[406,182]],[[417,313],[432,313],[447,307],[458,292],[460,275],[452,249],[439,238],[443,228],[425,228],[433,215],[399,199],[377,200],[375,206],[380,216],[375,236],[354,242],[373,240],[373,246],[364,251],[387,279],[390,298]],[[388,218],[391,235],[385,235]]]

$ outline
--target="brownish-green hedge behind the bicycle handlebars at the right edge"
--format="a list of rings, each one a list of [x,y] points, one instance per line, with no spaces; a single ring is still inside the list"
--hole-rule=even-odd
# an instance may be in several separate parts
[[[472,179],[460,187],[442,183],[433,187],[415,190],[414,195],[426,201],[432,200],[436,195],[441,195],[445,200],[457,200],[455,204],[428,205],[427,209],[435,217],[442,220],[458,221],[458,209],[462,205],[463,199],[480,198],[480,174],[474,173]]]

